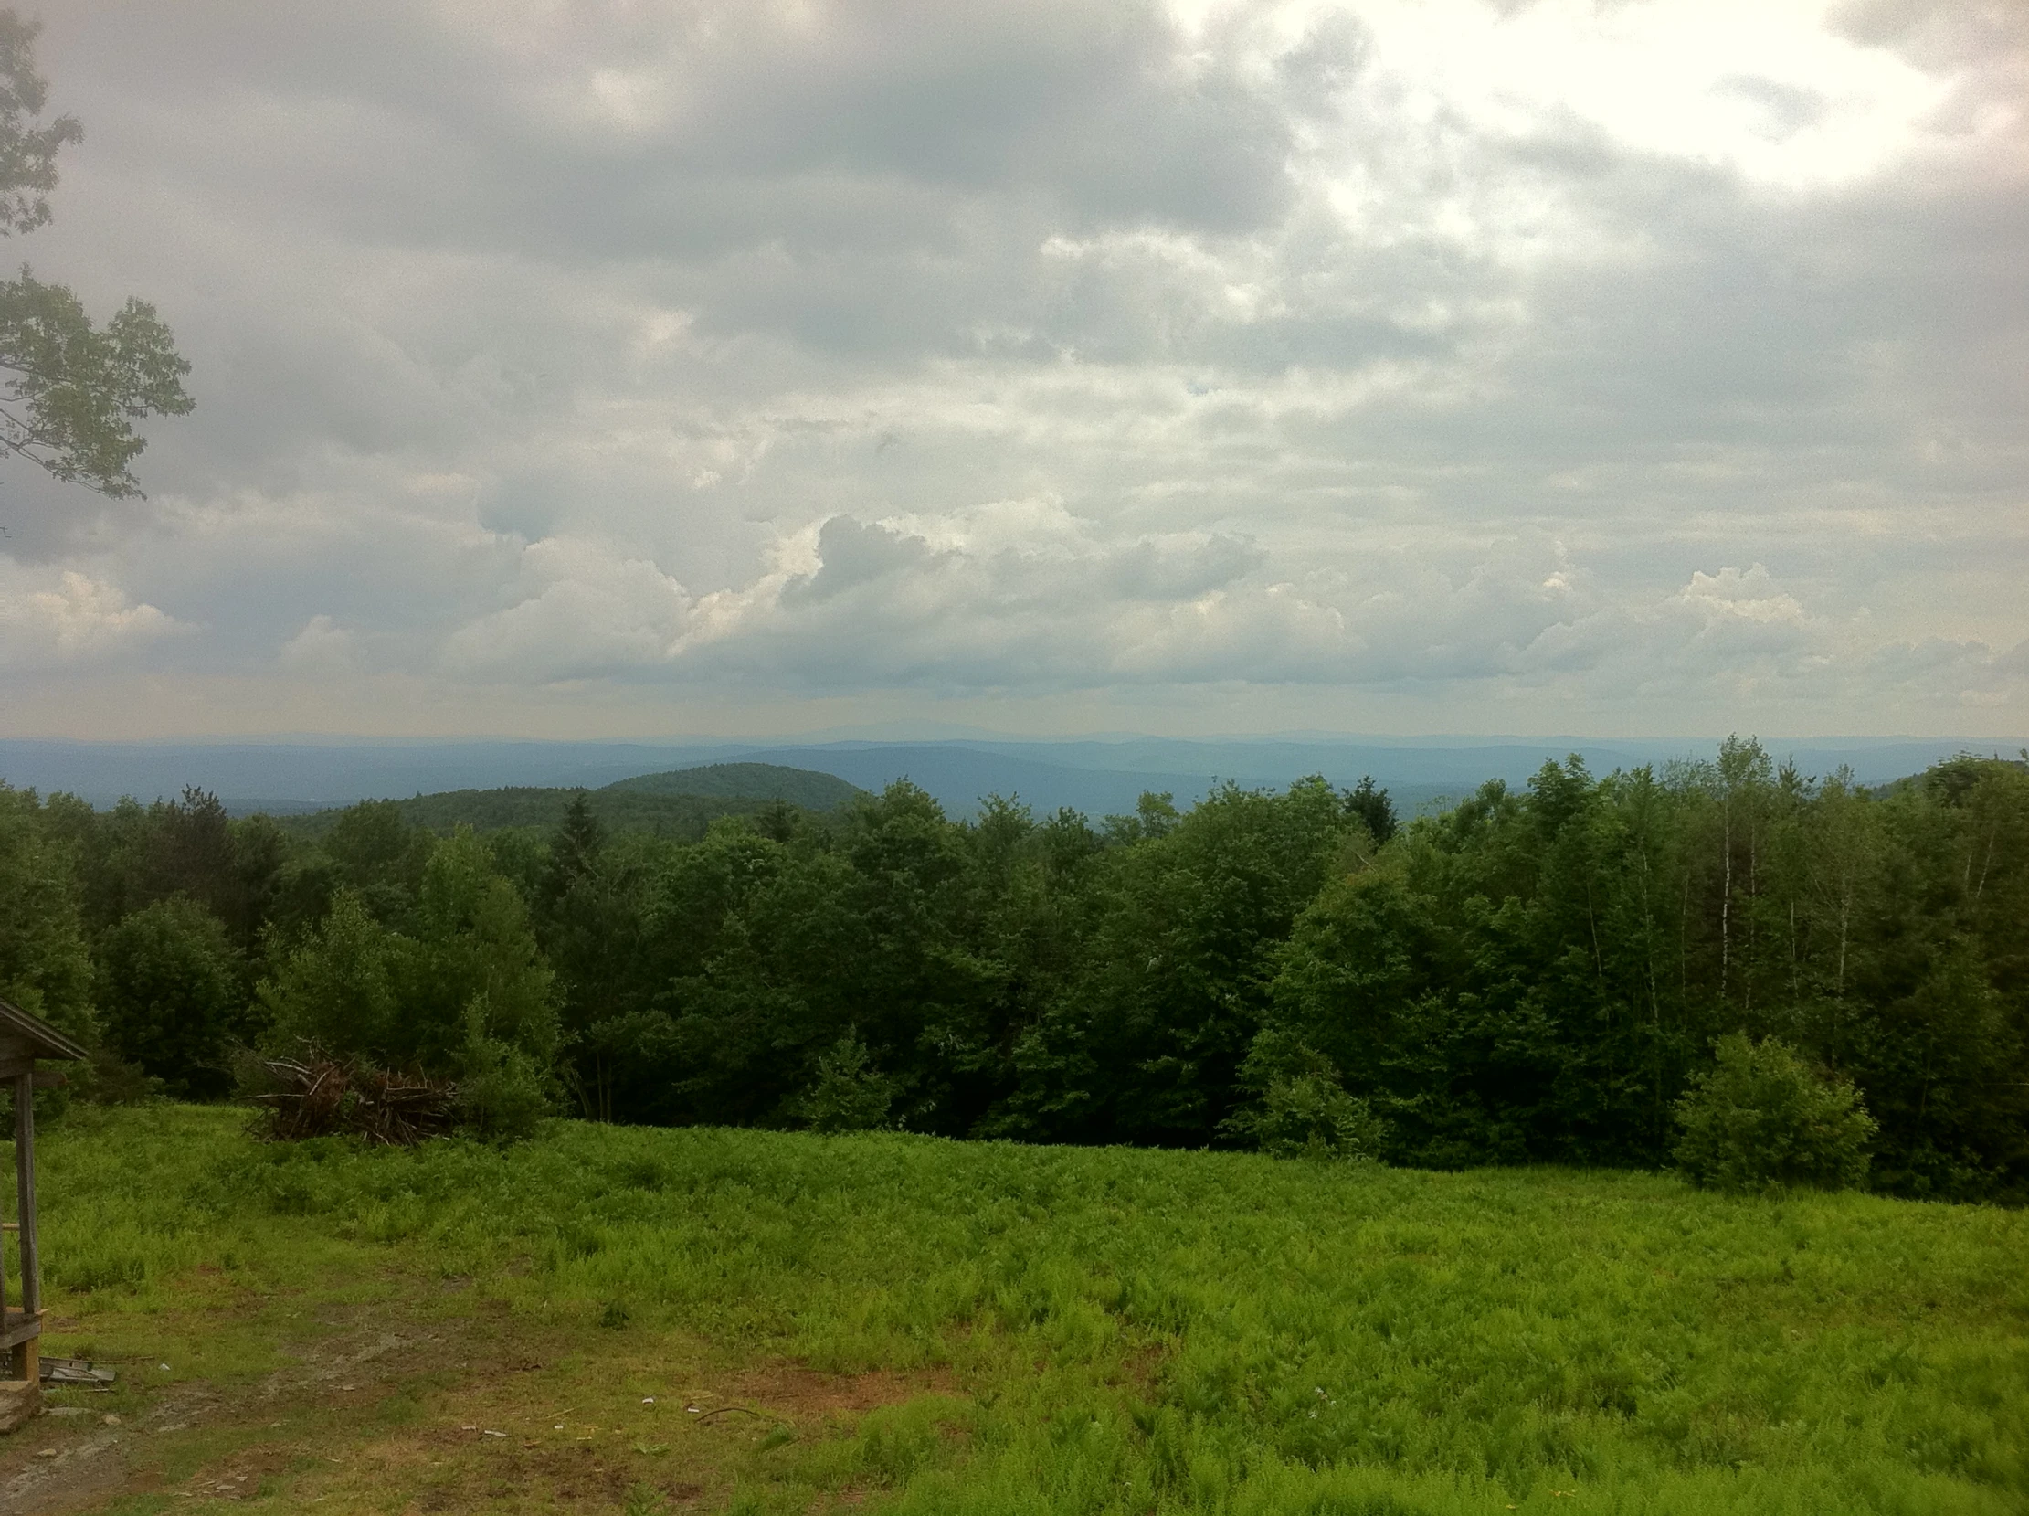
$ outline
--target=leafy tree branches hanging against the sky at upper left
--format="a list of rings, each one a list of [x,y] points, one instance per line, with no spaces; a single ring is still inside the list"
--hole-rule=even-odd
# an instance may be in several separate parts
[[[49,221],[57,150],[83,140],[71,116],[41,122],[49,85],[34,69],[39,22],[0,10],[0,235]],[[185,416],[191,365],[146,300],[130,298],[103,327],[61,284],[28,268],[0,282],[0,451],[122,499],[140,493],[132,463],[146,446],[142,416]]]

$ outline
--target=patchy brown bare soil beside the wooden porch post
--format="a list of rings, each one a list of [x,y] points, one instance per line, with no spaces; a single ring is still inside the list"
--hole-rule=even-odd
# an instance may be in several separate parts
[[[47,1394],[47,1412],[0,1443],[0,1516],[720,1510],[737,1481],[791,1477],[773,1449],[956,1394],[948,1374],[739,1362],[680,1333],[532,1323],[471,1287],[381,1283],[373,1301],[282,1311],[280,1362],[264,1372],[181,1376],[148,1362],[152,1348],[120,1364],[112,1394]],[[51,1339],[254,1343],[276,1315],[272,1301],[215,1299],[146,1333],[59,1321]],[[840,1488],[816,1508],[858,1498]]]

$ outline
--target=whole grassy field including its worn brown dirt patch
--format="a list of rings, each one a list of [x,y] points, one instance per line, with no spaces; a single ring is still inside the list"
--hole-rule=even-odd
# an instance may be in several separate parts
[[[49,1350],[124,1376],[0,1510],[2029,1510],[2015,1212],[174,1106],[43,1155]]]

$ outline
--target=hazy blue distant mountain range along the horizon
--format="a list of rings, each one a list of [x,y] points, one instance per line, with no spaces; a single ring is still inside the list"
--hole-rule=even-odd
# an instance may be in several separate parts
[[[2013,757],[2021,743],[1964,739],[1814,739],[1771,741],[1777,761],[1806,773],[1850,765],[1861,783],[1917,773],[1958,751]],[[1471,794],[1485,779],[1522,783],[1544,761],[1581,753],[1595,773],[1637,763],[1710,757],[1717,743],[1593,739],[1329,739],[1270,737],[1187,741],[1130,737],[1110,741],[834,741],[834,743],[67,743],[0,741],[0,777],[43,791],[69,789],[93,804],[122,796],[154,800],[185,785],[217,794],[235,812],[310,812],[369,798],[426,796],[454,789],[586,787],[700,765],[737,769],[771,765],[832,775],[860,789],[907,777],[950,812],[972,814],[982,796],[1012,796],[1039,814],[1059,806],[1088,816],[1124,814],[1144,789],[1169,791],[1179,806],[1232,779],[1286,785],[1307,773],[1333,783],[1374,775],[1402,812]],[[720,783],[684,779],[686,785]],[[724,779],[734,785],[745,779]],[[672,791],[663,791],[672,794]],[[690,789],[698,798],[696,789]],[[739,798],[732,789],[710,791]],[[704,796],[710,798],[710,796]],[[793,800],[791,796],[783,796]],[[546,804],[546,802],[544,802]],[[795,804],[810,804],[797,800]]]

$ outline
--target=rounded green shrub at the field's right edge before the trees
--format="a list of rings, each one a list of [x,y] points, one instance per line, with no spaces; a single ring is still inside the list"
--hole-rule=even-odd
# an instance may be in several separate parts
[[[1875,1118],[1852,1084],[1820,1076],[1773,1037],[1757,1045],[1733,1033],[1715,1053],[1676,1102],[1676,1161],[1690,1179],[1735,1191],[1867,1179]]]

